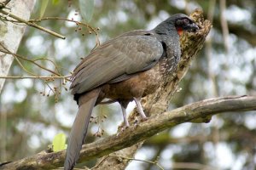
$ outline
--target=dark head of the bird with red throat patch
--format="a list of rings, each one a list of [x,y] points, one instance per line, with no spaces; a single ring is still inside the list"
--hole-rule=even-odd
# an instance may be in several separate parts
[[[195,24],[194,20],[191,20],[186,14],[174,14],[172,15],[172,21],[176,27],[179,36],[183,34],[183,31],[197,31],[199,27]]]

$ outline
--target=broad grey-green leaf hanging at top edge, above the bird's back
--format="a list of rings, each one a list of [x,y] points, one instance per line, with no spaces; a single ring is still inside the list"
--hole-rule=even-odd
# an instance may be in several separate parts
[[[86,22],[90,22],[94,11],[94,0],[79,0],[80,14]]]

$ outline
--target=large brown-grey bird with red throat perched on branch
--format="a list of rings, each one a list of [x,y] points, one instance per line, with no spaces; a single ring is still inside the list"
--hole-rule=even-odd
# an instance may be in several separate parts
[[[135,101],[143,120],[147,116],[140,100],[153,94],[177,68],[181,58],[179,37],[183,31],[200,28],[186,14],[173,14],[153,30],[125,32],[92,49],[74,69],[70,90],[79,105],[67,144],[64,169],[71,170],[79,160],[91,112],[103,99],[119,102],[125,127],[126,107]]]

